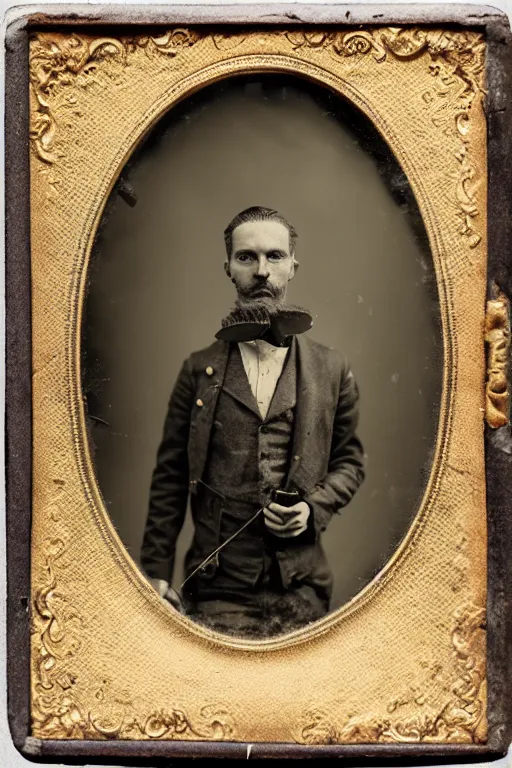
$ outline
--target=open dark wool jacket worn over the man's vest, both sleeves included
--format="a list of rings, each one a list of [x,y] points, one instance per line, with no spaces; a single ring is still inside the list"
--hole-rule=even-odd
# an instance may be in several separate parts
[[[311,581],[313,572],[329,573],[320,534],[331,516],[352,498],[364,478],[363,450],[355,434],[358,390],[345,360],[306,336],[294,339],[297,353],[297,403],[292,437],[293,460],[287,490],[298,490],[312,510],[313,536],[289,541],[278,553],[285,586]],[[229,344],[216,341],[183,364],[171,394],[163,438],[151,484],[141,565],[152,578],[171,581],[178,534],[189,493],[192,516],[202,513],[201,479],[210,433],[229,357]],[[257,456],[255,456],[255,461]],[[222,489],[220,489],[222,490]],[[274,537],[276,538],[276,537]],[[201,548],[199,542],[199,548]],[[207,549],[207,547],[205,548]],[[207,557],[210,551],[202,555]],[[200,562],[200,558],[198,559]],[[187,563],[190,571],[196,563]],[[197,563],[199,564],[199,563]],[[313,578],[313,581],[315,579]]]

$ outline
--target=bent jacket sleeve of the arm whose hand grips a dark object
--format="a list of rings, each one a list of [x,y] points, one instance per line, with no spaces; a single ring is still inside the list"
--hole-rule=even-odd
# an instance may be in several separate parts
[[[352,371],[344,364],[327,475],[304,499],[312,510],[315,537],[325,531],[332,515],[348,504],[364,480],[363,447],[356,435],[358,421],[359,391]]]

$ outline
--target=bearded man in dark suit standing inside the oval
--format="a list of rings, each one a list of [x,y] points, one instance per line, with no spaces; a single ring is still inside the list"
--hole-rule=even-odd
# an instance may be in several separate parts
[[[236,306],[172,392],[141,564],[196,621],[269,636],[329,611],[321,535],[364,478],[358,389],[338,353],[301,335],[311,315],[286,303],[298,268],[292,225],[253,207],[224,238]],[[189,496],[194,537],[178,602],[169,585]]]

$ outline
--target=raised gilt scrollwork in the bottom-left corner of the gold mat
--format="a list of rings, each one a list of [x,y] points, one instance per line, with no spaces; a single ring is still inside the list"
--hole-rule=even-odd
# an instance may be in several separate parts
[[[64,538],[47,540],[40,587],[33,604],[32,736],[39,739],[142,739],[226,741],[233,718],[223,706],[206,705],[193,721],[180,708],[143,712],[110,679],[93,683],[94,706],[84,703],[84,688],[74,671],[83,650],[84,621],[59,591],[66,568]],[[63,562],[64,561],[64,562]],[[87,683],[90,681],[85,681]]]

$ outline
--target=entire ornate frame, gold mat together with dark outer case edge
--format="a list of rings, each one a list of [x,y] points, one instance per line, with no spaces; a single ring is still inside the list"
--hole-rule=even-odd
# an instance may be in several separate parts
[[[262,8],[76,7],[10,27],[13,738],[88,760],[496,756],[510,734],[508,27],[482,8]],[[313,627],[250,642],[171,612],[126,554],[90,461],[79,329],[94,234],[137,143],[187,94],[261,71],[348,98],[401,163],[434,258],[444,385],[428,487],[391,561]]]

